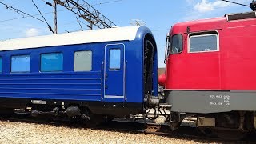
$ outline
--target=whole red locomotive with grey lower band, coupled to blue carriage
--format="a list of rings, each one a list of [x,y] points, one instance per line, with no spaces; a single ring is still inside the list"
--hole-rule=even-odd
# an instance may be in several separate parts
[[[174,25],[167,36],[170,126],[197,117],[203,131],[241,138],[256,127],[256,13]],[[229,133],[223,133],[229,131]]]

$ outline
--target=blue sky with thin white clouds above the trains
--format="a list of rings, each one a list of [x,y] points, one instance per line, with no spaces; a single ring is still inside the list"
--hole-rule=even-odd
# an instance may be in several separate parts
[[[82,1],[82,0],[80,0]],[[22,10],[27,14],[42,19],[31,0],[0,0],[7,5]],[[34,0],[38,9],[53,26],[53,7],[46,2],[53,0]],[[166,34],[170,27],[178,22],[202,18],[223,17],[224,14],[251,11],[250,7],[238,6],[219,0],[87,0],[91,6],[100,11],[117,26],[131,26],[133,19],[142,20],[154,34],[158,46],[158,67],[164,67]],[[233,0],[250,5],[251,0]],[[17,14],[0,4],[0,41],[12,38],[25,38],[52,34],[44,22],[26,15]],[[88,30],[88,22],[79,18],[82,29]],[[62,6],[58,6],[58,33],[82,30],[76,15]],[[97,29],[94,26],[94,29]]]

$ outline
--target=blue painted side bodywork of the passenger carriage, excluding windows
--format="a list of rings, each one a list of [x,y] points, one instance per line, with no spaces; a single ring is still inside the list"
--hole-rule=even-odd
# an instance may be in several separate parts
[[[146,34],[151,34],[150,30],[146,27],[140,27],[133,41],[98,42],[0,51],[0,57],[2,57],[0,98],[143,103],[143,46]],[[123,51],[121,50],[121,53],[124,54],[121,58],[123,60],[123,62],[121,61],[121,69],[115,73],[106,70],[106,64],[110,58],[107,58],[107,56],[105,58],[105,49],[116,48],[114,45],[117,44],[124,46]],[[79,50],[92,50],[92,71],[74,72],[74,52]],[[40,71],[40,56],[46,53],[63,54],[62,71]],[[14,55],[30,55],[30,72],[10,72],[11,57]],[[154,95],[157,95],[158,86],[157,55],[157,50],[155,50]],[[125,65],[126,67],[124,67]],[[124,73],[125,69],[126,73]],[[105,71],[113,72],[111,76],[109,75],[107,81]],[[125,82],[125,85],[120,82]],[[106,90],[106,83],[109,86],[108,90]],[[105,98],[106,93],[109,95],[124,95],[125,98]]]

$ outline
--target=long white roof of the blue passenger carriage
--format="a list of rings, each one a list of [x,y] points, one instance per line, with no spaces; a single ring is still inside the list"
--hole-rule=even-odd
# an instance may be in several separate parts
[[[30,38],[0,41],[0,51],[20,50],[46,46],[65,46],[93,42],[134,40],[139,26],[115,27],[101,30],[87,30],[66,34],[52,34]]]

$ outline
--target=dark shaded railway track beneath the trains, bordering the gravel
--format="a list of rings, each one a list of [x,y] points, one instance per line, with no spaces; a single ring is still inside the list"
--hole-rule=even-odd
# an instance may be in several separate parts
[[[134,134],[156,134],[164,137],[171,138],[189,138],[191,140],[204,140],[208,142],[217,143],[256,143],[256,134],[251,134],[248,138],[241,141],[226,141],[217,137],[206,137],[202,133],[198,132],[196,127],[182,126],[178,130],[171,131],[166,124],[156,124],[153,122],[143,121],[132,121],[127,119],[114,119],[112,122],[103,122],[97,126],[86,126],[82,125],[82,122],[74,121],[54,121],[50,119],[32,118],[29,115],[3,115],[0,116],[0,121],[11,121],[11,122],[26,122],[26,123],[38,123],[47,124],[53,126],[66,126],[71,128],[90,128],[96,130],[108,130],[108,131],[119,131],[124,133]]]

